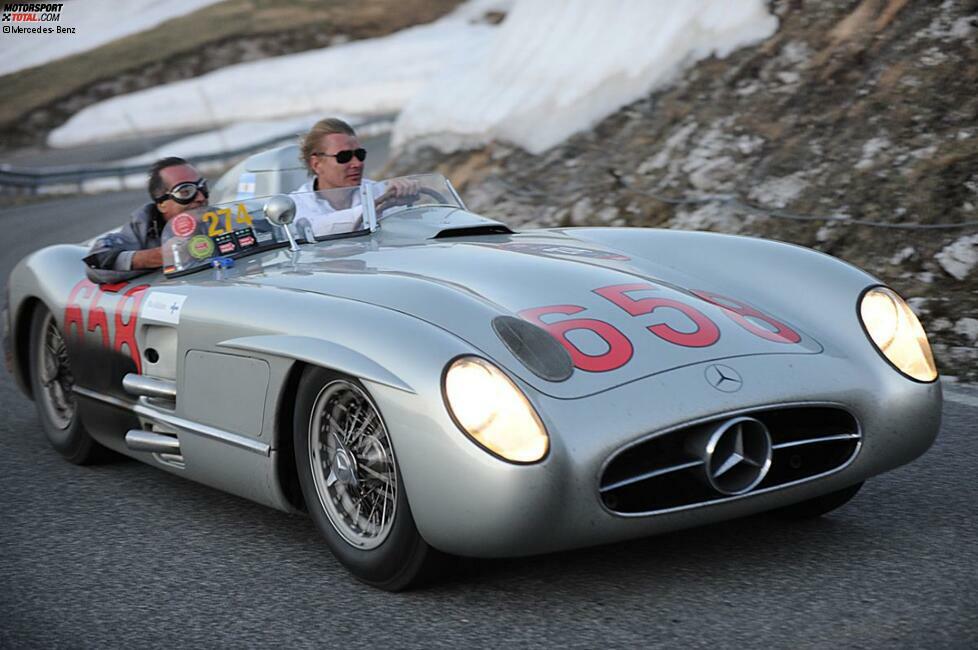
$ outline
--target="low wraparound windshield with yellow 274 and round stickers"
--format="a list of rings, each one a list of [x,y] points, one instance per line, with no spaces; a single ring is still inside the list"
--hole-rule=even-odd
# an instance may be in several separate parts
[[[276,195],[282,196],[282,195]],[[360,186],[292,192],[295,217],[289,229],[298,243],[324,241],[377,229],[385,217],[424,206],[464,208],[440,174],[365,180]],[[272,197],[186,210],[170,219],[161,237],[163,272],[182,275],[211,266],[218,258],[238,258],[288,245],[285,228],[265,216]],[[364,214],[364,199],[373,209]]]

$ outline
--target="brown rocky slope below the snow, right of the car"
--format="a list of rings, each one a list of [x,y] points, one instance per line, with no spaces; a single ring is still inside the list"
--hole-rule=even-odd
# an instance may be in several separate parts
[[[907,297],[941,371],[978,380],[978,0],[776,0],[778,32],[540,156],[402,152],[517,226],[762,236]]]

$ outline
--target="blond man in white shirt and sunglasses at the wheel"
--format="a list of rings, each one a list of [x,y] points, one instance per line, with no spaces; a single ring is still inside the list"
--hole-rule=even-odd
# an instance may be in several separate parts
[[[313,233],[351,232],[362,225],[360,193],[351,191],[346,204],[337,201],[336,194],[327,198],[316,194],[319,190],[359,187],[369,183],[377,202],[389,197],[414,194],[417,184],[403,179],[378,183],[363,177],[363,161],[367,150],[360,146],[357,134],[349,124],[335,117],[316,122],[302,139],[299,155],[312,176],[299,189],[292,192],[295,200],[297,227],[302,220],[312,227]]]

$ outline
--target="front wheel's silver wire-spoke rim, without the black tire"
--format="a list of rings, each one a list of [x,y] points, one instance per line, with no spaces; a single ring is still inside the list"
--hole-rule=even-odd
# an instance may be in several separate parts
[[[316,493],[333,528],[361,550],[383,544],[397,514],[397,469],[390,436],[367,395],[342,380],[324,386],[308,444]]]

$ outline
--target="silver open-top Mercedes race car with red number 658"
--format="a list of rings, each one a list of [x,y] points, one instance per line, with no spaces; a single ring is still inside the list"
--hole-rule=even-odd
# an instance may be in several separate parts
[[[158,272],[96,284],[86,245],[14,269],[8,368],[68,460],[307,510],[394,590],[452,556],[818,516],[937,435],[920,323],[832,257],[514,232],[433,174],[290,195],[294,160],[229,172]]]

